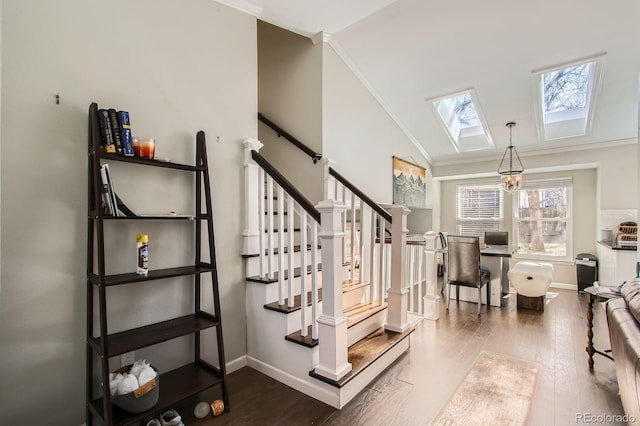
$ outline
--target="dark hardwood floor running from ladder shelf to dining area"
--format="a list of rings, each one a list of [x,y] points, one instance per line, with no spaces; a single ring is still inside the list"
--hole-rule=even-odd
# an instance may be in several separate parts
[[[345,408],[335,410],[248,367],[229,376],[231,412],[195,419],[198,401],[219,398],[211,389],[175,408],[188,426],[200,425],[427,425],[446,404],[481,350],[542,366],[532,425],[576,424],[578,413],[623,414],[613,362],[596,355],[589,371],[586,306],[575,291],[550,289],[544,312],[507,306],[476,314],[474,303],[441,300],[439,321],[423,321],[411,349]],[[594,342],[609,347],[601,306],[594,313]]]

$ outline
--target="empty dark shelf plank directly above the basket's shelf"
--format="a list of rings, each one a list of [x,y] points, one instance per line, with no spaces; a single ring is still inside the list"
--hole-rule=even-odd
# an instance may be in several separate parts
[[[176,337],[186,336],[197,331],[215,327],[220,324],[217,318],[206,312],[173,318],[167,321],[138,327],[107,336],[109,357],[114,357],[136,349],[155,345]],[[103,356],[102,337],[92,337],[89,344],[100,356]]]

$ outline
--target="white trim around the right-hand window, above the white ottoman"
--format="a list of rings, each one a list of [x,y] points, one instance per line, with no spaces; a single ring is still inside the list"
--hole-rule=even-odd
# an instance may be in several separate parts
[[[566,223],[566,245],[567,251],[565,256],[553,256],[553,255],[544,255],[544,254],[524,254],[518,253],[518,248],[520,246],[520,233],[519,233],[519,222],[520,218],[518,217],[518,209],[520,202],[520,191],[526,191],[527,189],[544,189],[544,188],[554,188],[553,184],[556,184],[555,188],[559,186],[564,186],[567,189],[567,217],[564,219]],[[511,197],[512,200],[512,210],[513,210],[513,223],[512,223],[512,233],[513,233],[513,249],[514,252],[511,255],[513,259],[521,259],[521,260],[540,260],[545,262],[555,262],[555,263],[572,263],[573,262],[573,177],[558,177],[551,179],[534,179],[527,180],[523,183],[523,186],[520,190],[518,190],[517,194],[514,194]],[[553,218],[543,218],[543,221],[562,221],[562,219],[553,219]]]

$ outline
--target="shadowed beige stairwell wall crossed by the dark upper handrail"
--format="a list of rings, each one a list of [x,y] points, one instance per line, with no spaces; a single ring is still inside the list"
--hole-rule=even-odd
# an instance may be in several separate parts
[[[258,108],[300,142],[322,153],[322,46],[258,21]],[[322,164],[264,123],[260,153],[311,202],[323,198]]]

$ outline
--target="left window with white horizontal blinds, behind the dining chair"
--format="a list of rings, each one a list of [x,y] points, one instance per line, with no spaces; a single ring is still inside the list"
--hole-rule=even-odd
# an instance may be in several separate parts
[[[500,185],[458,186],[457,233],[480,237],[483,241],[485,231],[499,231],[502,203]]]

